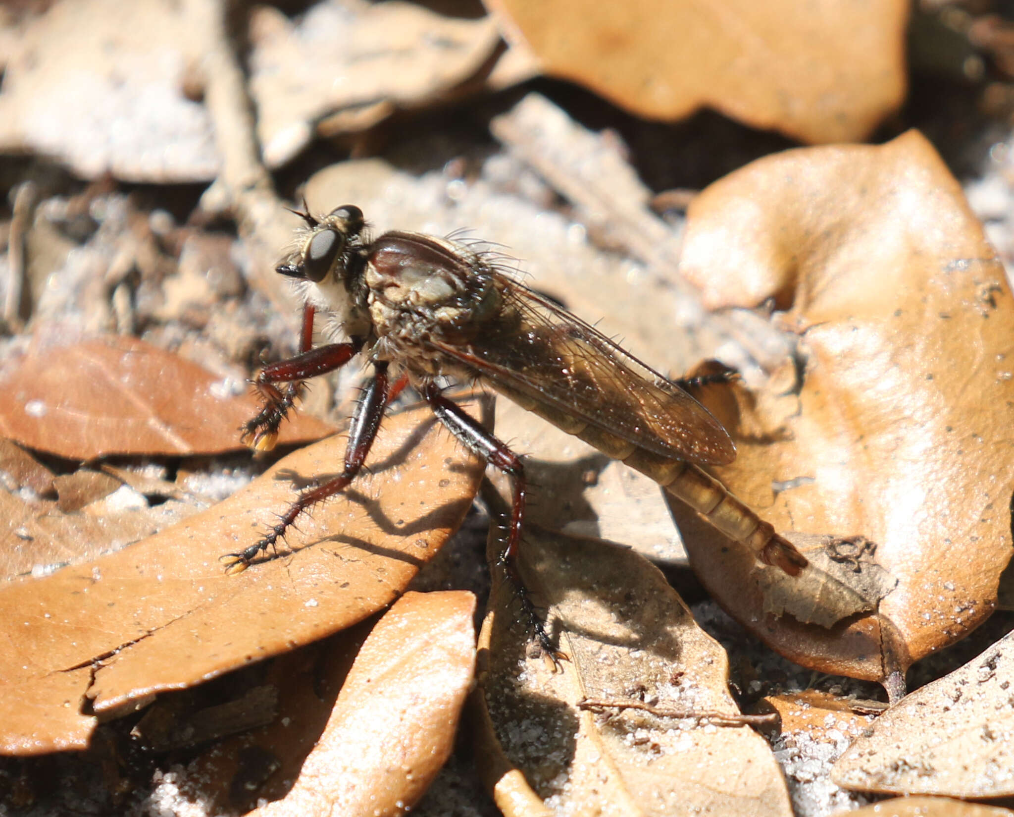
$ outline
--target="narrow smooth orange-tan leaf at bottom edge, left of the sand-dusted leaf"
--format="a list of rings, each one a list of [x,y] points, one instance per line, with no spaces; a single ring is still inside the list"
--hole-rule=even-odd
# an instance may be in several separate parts
[[[404,814],[454,745],[476,662],[476,597],[408,593],[370,633],[292,790],[257,817]]]

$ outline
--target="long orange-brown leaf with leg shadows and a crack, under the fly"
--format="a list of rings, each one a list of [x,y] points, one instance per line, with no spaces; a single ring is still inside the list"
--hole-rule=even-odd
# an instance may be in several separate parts
[[[483,470],[426,408],[388,418],[371,473],[300,521],[291,555],[240,575],[219,562],[274,524],[294,486],[334,474],[345,445],[302,449],[180,525],[0,591],[0,751],[84,746],[89,708],[112,717],[389,604],[460,525]]]

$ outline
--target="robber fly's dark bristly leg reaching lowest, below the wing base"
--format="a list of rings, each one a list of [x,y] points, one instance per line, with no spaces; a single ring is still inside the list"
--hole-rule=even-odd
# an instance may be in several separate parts
[[[567,655],[561,653],[553,641],[542,624],[541,619],[535,612],[535,607],[528,598],[528,591],[521,581],[521,573],[517,567],[518,547],[521,544],[521,523],[524,519],[524,503],[527,490],[527,481],[524,476],[524,465],[521,458],[512,452],[504,442],[494,434],[484,428],[480,422],[456,403],[444,397],[440,389],[430,383],[423,389],[423,397],[429,403],[437,419],[442,422],[447,429],[462,442],[465,448],[474,454],[479,455],[490,465],[499,468],[511,478],[513,488],[513,499],[511,501],[510,523],[507,530],[507,545],[500,552],[497,564],[503,567],[507,580],[514,586],[517,592],[521,609],[527,618],[531,629],[535,633],[538,645],[553,659],[554,664],[559,665],[561,660],[566,660]]]

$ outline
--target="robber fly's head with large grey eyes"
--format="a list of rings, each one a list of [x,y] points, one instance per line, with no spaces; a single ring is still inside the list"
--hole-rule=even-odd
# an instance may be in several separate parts
[[[293,212],[306,222],[306,228],[296,249],[279,264],[276,272],[316,284],[329,277],[344,281],[350,261],[363,244],[366,227],[363,211],[354,204],[343,204],[322,218],[310,215],[308,210]]]

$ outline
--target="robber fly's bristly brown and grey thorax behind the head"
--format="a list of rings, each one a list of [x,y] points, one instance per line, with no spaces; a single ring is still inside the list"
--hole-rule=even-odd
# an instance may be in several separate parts
[[[500,303],[495,276],[475,252],[415,232],[377,239],[365,282],[377,335],[402,346],[431,338],[467,343]]]

